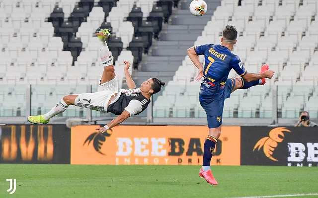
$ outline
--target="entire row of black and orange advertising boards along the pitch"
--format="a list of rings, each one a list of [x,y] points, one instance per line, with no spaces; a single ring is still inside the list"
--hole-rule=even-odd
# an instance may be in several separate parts
[[[0,163],[201,165],[207,126],[0,126]],[[317,127],[224,126],[212,165],[318,166]]]

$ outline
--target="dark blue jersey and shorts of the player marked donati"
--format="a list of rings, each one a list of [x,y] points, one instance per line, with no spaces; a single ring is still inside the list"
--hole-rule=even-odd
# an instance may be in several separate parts
[[[195,46],[194,50],[197,55],[204,54],[205,59],[199,101],[207,114],[209,128],[216,128],[222,124],[224,100],[230,97],[236,84],[234,79],[228,79],[231,69],[240,76],[246,70],[239,56],[224,46],[207,44]]]

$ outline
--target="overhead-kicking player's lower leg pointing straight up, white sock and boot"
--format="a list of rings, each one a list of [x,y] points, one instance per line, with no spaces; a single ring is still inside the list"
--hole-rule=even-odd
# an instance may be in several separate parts
[[[104,66],[103,75],[100,80],[100,84],[106,83],[115,78],[115,68],[113,65],[113,58],[108,49],[107,43],[105,39],[112,36],[112,32],[108,29],[100,29],[97,28],[95,31],[98,39],[99,39],[99,52],[100,59]]]

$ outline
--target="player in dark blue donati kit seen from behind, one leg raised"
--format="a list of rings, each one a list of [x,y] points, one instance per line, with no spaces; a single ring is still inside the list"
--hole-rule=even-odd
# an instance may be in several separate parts
[[[199,101],[207,114],[209,135],[204,143],[203,166],[199,176],[213,185],[218,182],[212,175],[210,161],[214,154],[215,146],[221,135],[222,114],[224,100],[237,89],[248,89],[255,85],[264,85],[265,78],[272,78],[273,70],[268,65],[261,67],[260,73],[248,73],[240,62],[239,56],[231,51],[237,43],[238,32],[234,26],[228,25],[223,30],[221,45],[207,44],[187,49],[187,54],[193,64],[199,69],[196,80],[203,77],[199,93]],[[205,58],[204,67],[198,55]],[[230,70],[234,69],[241,78],[228,79]]]

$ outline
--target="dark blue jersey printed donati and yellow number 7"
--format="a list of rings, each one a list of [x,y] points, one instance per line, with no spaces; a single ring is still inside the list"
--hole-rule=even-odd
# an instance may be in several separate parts
[[[195,46],[194,50],[197,55],[204,54],[203,82],[211,91],[224,88],[231,69],[240,76],[246,74],[239,56],[233,54],[227,47],[207,44]]]

